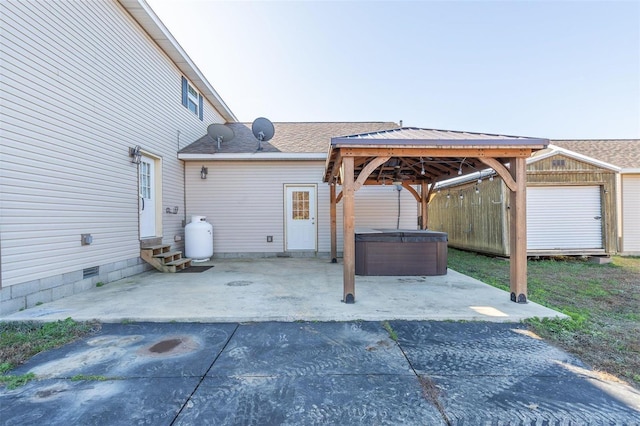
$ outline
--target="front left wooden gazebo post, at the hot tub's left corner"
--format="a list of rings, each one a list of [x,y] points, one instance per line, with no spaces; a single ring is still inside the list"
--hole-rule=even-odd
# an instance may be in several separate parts
[[[355,188],[354,159],[342,159],[342,217],[343,217],[343,299],[345,303],[356,301],[356,242],[355,242]]]

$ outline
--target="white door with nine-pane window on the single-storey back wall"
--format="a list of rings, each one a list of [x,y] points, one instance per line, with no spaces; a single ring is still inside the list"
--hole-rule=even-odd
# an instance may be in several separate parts
[[[316,186],[285,185],[285,250],[316,250]]]

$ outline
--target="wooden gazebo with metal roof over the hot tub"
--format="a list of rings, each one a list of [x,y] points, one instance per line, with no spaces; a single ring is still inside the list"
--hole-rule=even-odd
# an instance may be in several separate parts
[[[546,139],[407,127],[332,138],[324,181],[330,185],[334,262],[337,258],[336,204],[343,202],[343,301],[355,302],[354,196],[362,185],[401,184],[420,204],[420,225],[427,229],[429,196],[435,184],[489,167],[502,177],[510,190],[511,300],[526,303],[525,162],[533,152],[548,144]],[[342,187],[339,194],[338,185]]]

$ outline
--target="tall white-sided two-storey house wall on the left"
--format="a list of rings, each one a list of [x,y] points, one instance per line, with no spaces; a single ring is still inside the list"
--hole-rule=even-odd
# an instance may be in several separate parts
[[[6,313],[145,270],[129,147],[161,161],[163,210],[182,213],[176,152],[222,119],[182,106],[180,71],[117,2],[0,2],[0,20]],[[163,242],[182,219],[162,213]]]

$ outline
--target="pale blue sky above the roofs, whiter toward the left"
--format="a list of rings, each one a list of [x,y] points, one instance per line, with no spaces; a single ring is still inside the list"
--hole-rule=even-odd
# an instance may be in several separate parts
[[[146,0],[239,121],[640,138],[640,0]]]

